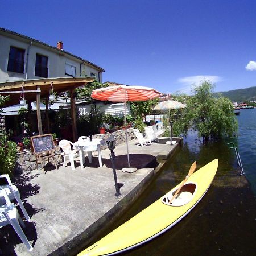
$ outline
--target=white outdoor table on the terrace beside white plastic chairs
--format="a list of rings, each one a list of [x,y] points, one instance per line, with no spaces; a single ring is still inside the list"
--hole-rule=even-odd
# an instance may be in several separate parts
[[[75,146],[79,149],[80,163],[81,169],[84,169],[84,151],[88,154],[89,163],[92,163],[92,151],[98,151],[98,163],[100,167],[102,167],[101,160],[101,140],[93,139],[93,141],[77,141],[75,142]]]

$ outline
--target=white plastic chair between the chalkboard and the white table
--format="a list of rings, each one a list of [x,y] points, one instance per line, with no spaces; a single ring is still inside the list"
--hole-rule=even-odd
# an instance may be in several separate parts
[[[72,145],[72,148],[71,148]],[[79,156],[79,150],[76,148],[76,145],[67,139],[61,139],[59,142],[60,148],[64,152],[64,163],[63,166],[66,166],[66,159],[69,158],[72,170],[75,170],[75,158]]]

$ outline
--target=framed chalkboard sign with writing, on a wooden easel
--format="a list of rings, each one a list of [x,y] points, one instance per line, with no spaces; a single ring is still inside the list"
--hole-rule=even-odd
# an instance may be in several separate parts
[[[32,152],[42,153],[46,151],[55,150],[52,139],[52,134],[43,134],[38,136],[31,136]]]

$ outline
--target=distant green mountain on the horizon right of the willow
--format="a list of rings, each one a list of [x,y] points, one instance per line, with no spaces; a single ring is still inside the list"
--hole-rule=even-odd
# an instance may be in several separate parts
[[[214,97],[227,97],[231,101],[256,101],[256,86],[245,89],[228,90],[228,92],[214,93]]]

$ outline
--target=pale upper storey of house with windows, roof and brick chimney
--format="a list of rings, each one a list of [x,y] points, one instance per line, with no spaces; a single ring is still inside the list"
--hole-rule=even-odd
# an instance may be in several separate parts
[[[105,70],[57,47],[0,28],[0,82],[42,77],[76,77],[81,73],[102,82]],[[75,46],[74,46],[75,47]]]

